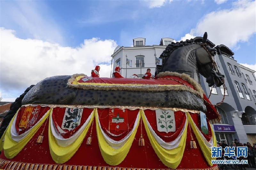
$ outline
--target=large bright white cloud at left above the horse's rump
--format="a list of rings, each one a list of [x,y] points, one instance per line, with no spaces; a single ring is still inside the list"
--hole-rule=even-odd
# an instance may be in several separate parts
[[[114,40],[92,38],[79,47],[63,47],[36,39],[20,39],[13,30],[1,27],[1,94],[13,90],[21,93],[40,80],[55,75],[84,73],[99,63],[110,63],[116,48]],[[100,65],[100,76],[110,76],[110,64]],[[6,98],[18,96],[3,96]]]

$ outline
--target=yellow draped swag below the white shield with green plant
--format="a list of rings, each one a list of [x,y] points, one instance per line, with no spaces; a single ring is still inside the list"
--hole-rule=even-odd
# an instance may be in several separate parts
[[[154,136],[151,134],[151,132],[148,128],[145,113],[143,110],[141,110],[141,115],[142,115],[144,127],[145,127],[147,135],[148,135],[148,139],[149,139],[154,151],[156,152],[158,158],[163,162],[163,164],[165,166],[168,166],[173,169],[177,168],[180,164],[182,157],[183,157],[183,153],[184,153],[185,146],[186,146],[188,120],[186,121],[186,123],[184,125],[186,127],[184,130],[184,133],[182,134],[182,136],[180,138],[180,144],[178,145],[178,147],[171,149],[171,150],[167,150],[167,149],[164,149],[160,144],[158,144],[158,142],[156,141]]]

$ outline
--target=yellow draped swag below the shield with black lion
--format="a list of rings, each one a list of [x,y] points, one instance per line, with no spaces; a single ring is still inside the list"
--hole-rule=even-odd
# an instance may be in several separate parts
[[[88,132],[88,129],[90,128],[90,126],[92,124],[95,111],[96,111],[96,109],[93,109],[93,114],[91,116],[91,120],[88,123],[88,125],[84,128],[81,135],[79,137],[77,137],[75,142],[73,142],[72,144],[70,144],[66,147],[62,147],[62,146],[58,145],[57,141],[55,140],[55,138],[52,135],[51,126],[50,126],[51,119],[52,119],[52,111],[51,111],[50,119],[49,119],[48,138],[49,138],[50,153],[51,153],[51,156],[52,156],[52,159],[54,160],[54,162],[56,162],[58,164],[65,163],[76,153],[76,151],[80,147],[81,143],[83,142],[84,137],[86,136],[86,134]]]

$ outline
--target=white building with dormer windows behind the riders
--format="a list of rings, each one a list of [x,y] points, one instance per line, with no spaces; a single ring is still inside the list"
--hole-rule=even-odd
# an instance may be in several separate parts
[[[139,77],[144,76],[147,69],[151,69],[151,74],[155,74],[156,70],[156,60],[155,56],[158,58],[166,46],[170,44],[172,38],[162,38],[159,45],[146,46],[145,38],[135,38],[133,39],[133,47],[116,47],[114,54],[111,55],[113,58],[113,71],[117,66],[120,67],[120,74],[125,77],[127,71],[127,78],[133,74],[137,74]],[[126,56],[127,59],[132,60],[132,67],[127,65],[126,69]],[[141,64],[141,69],[140,69]]]

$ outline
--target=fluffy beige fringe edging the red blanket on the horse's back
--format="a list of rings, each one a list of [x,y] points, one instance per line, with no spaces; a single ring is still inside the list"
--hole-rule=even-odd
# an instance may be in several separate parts
[[[198,97],[202,98],[203,99],[203,94],[204,94],[204,91],[203,89],[201,88],[200,85],[198,85],[198,83],[196,83],[195,80],[193,80],[193,78],[190,78],[187,74],[185,73],[176,73],[176,72],[164,72],[165,74],[169,74],[171,73],[172,76],[177,76],[177,77],[180,77],[182,79],[184,79],[185,81],[187,81],[188,83],[190,83],[191,85],[194,86],[194,89],[186,86],[186,85],[148,85],[148,84],[136,84],[136,85],[133,85],[133,84],[120,84],[120,85],[111,85],[111,86],[108,86],[108,85],[100,85],[101,83],[99,83],[99,85],[81,85],[81,84],[78,84],[78,85],[74,85],[72,84],[72,82],[75,81],[76,77],[78,76],[86,76],[84,74],[74,74],[71,76],[70,79],[68,79],[68,87],[70,88],[78,88],[78,89],[84,89],[84,90],[106,90],[106,91],[110,91],[110,90],[114,90],[114,91],[117,91],[117,90],[123,90],[123,91],[131,91],[131,92],[134,92],[134,91],[137,91],[137,92],[163,92],[163,91],[188,91],[188,92],[191,92],[193,94],[196,94]],[[162,75],[164,73],[159,73],[158,75]],[[174,75],[175,74],[175,75]]]

